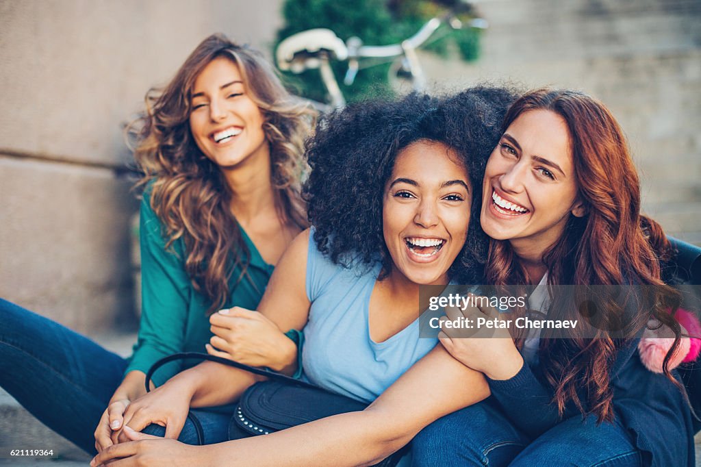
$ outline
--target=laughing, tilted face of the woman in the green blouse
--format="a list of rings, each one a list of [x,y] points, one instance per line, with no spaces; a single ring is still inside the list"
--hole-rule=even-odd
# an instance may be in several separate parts
[[[220,168],[269,158],[264,118],[249,95],[238,65],[212,60],[197,76],[191,97],[190,130],[200,150]]]

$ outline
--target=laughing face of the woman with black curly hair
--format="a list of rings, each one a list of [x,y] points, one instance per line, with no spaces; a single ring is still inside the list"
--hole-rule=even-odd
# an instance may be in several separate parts
[[[400,151],[382,207],[392,273],[417,284],[447,284],[468,234],[471,203],[470,177],[452,149],[424,140]]]

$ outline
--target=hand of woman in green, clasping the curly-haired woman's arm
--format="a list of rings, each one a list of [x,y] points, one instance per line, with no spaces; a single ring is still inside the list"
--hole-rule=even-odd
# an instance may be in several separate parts
[[[257,311],[238,306],[220,310],[210,316],[210,324],[215,334],[206,346],[210,355],[276,371],[297,360],[294,342]]]

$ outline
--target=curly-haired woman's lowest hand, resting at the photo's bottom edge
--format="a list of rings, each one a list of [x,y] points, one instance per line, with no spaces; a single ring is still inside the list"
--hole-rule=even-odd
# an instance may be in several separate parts
[[[176,440],[137,433],[125,426],[129,441],[103,449],[90,461],[90,466],[149,466],[176,467],[205,465],[205,452],[198,446],[185,445]]]

